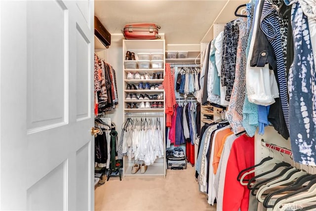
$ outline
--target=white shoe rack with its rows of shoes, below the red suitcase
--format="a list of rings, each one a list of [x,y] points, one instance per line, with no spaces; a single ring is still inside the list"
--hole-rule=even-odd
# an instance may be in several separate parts
[[[162,85],[164,72],[165,72],[165,42],[164,40],[123,40],[122,45],[123,50],[123,97],[124,97],[124,122],[128,117],[153,117],[158,116],[164,117],[164,108],[165,108],[165,93]],[[156,68],[156,65],[150,63],[149,68],[140,68],[144,67],[138,63],[136,67],[126,68],[126,52],[129,51],[134,53],[135,60],[138,62],[138,53],[160,53],[162,55],[162,65],[159,68]],[[151,58],[150,58],[151,59]],[[161,62],[160,60],[160,62]],[[160,63],[161,64],[161,63]],[[154,68],[153,68],[154,66]],[[139,74],[139,75],[137,75]],[[132,75],[132,77],[131,77]],[[147,77],[140,78],[139,76],[147,75]],[[149,75],[149,77],[148,77]],[[138,76],[135,78],[135,76]],[[156,77],[155,77],[156,76]],[[160,76],[160,77],[158,77]],[[139,84],[143,84],[143,89],[139,89]],[[145,89],[145,84],[148,83],[151,88]],[[156,89],[152,88],[155,87]],[[132,88],[133,87],[133,88]],[[141,87],[141,85],[140,85]],[[136,88],[136,89],[135,89]],[[140,95],[149,96],[146,99],[139,99]],[[129,97],[128,97],[129,95]],[[136,98],[135,98],[136,95]],[[127,99],[126,99],[127,96]],[[159,96],[159,97],[158,97]],[[146,105],[145,108],[141,105]],[[155,106],[155,104],[157,106]],[[149,108],[150,105],[150,108]],[[158,107],[159,105],[159,107]],[[164,119],[164,118],[163,118]],[[165,122],[161,123],[163,127]],[[165,133],[163,132],[163,141],[165,142]],[[164,149],[165,151],[165,149]],[[165,156],[163,158],[157,158],[155,163],[148,166],[145,173],[141,173],[140,170],[133,174],[132,167],[135,164],[135,161],[128,161],[127,156],[123,158],[123,178],[125,176],[165,176],[166,175],[166,160]]]

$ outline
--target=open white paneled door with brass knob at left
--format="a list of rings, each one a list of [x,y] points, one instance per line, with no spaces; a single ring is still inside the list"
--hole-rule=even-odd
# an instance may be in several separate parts
[[[93,210],[93,1],[0,0],[0,209]]]

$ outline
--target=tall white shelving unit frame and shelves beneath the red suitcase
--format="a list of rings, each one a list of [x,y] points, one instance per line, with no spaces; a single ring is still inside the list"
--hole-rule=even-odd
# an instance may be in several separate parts
[[[124,97],[124,121],[128,117],[130,117],[130,114],[134,114],[132,117],[135,117],[135,115],[139,115],[139,117],[145,117],[145,116],[156,116],[157,117],[163,117],[164,120],[164,97],[163,99],[150,99],[150,100],[125,100],[125,97],[127,94],[148,94],[148,95],[155,95],[155,94],[161,94],[163,93],[164,96],[164,90],[163,89],[126,89],[127,84],[134,84],[136,87],[139,83],[143,83],[144,85],[146,83],[149,84],[162,84],[163,79],[148,79],[148,80],[139,80],[139,79],[127,79],[128,73],[139,73],[144,74],[148,73],[151,77],[154,73],[160,74],[164,76],[164,64],[165,64],[165,42],[164,40],[123,40],[123,64],[125,60],[126,51],[137,53],[163,53],[163,68],[158,69],[125,69],[123,66],[123,97]],[[141,102],[150,102],[151,104],[154,102],[162,102],[163,108],[127,108],[128,103],[136,103],[138,106]],[[163,121],[162,128],[165,127],[165,121]],[[162,131],[163,136],[163,145],[165,145],[165,133]],[[164,149],[165,151],[165,149]],[[145,173],[140,173],[140,170],[136,172],[135,174],[131,173],[132,166],[134,165],[135,161],[132,159],[131,161],[128,160],[127,156],[124,156],[123,158],[123,177],[125,176],[165,176],[166,175],[166,158],[165,156],[163,158],[157,158],[155,163],[148,166]]]

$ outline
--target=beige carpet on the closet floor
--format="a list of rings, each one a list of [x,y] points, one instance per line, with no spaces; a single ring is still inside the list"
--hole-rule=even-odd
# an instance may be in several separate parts
[[[95,189],[96,211],[216,211],[198,191],[195,169],[167,170],[163,176],[129,176]]]

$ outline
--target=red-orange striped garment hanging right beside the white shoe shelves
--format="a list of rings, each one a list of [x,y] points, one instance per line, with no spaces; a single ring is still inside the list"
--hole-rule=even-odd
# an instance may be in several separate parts
[[[166,70],[164,73],[164,80],[162,82],[165,92],[165,113],[166,113],[166,127],[171,127],[171,116],[174,112],[174,106],[176,104],[176,96],[174,93],[174,78],[171,74],[170,64],[166,63]]]

